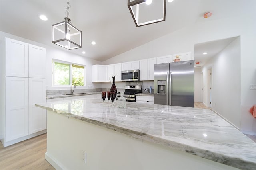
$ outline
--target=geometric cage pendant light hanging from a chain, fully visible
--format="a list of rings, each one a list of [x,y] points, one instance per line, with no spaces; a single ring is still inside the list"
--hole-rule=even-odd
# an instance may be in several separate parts
[[[77,49],[82,47],[82,31],[71,24],[68,9],[71,8],[67,2],[65,21],[52,25],[52,43],[66,49]]]

